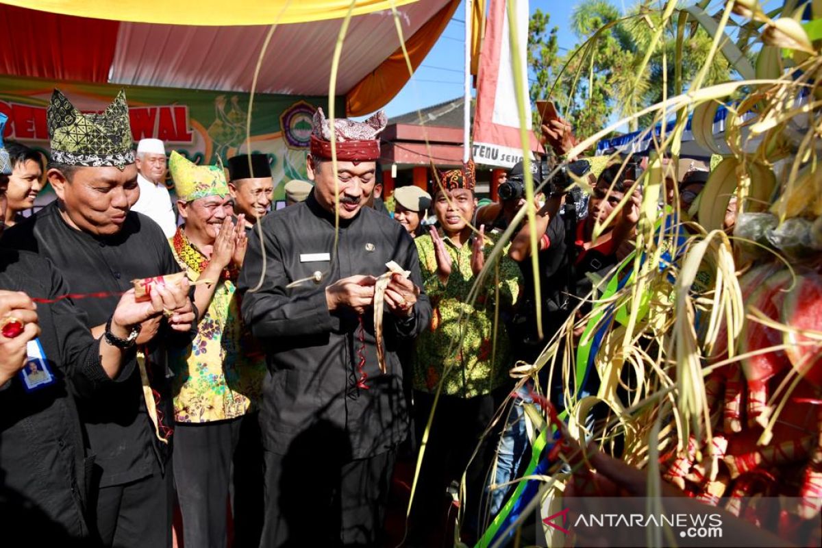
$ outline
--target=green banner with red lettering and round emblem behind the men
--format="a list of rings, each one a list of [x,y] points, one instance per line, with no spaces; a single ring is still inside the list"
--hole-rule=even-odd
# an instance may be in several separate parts
[[[17,140],[48,155],[46,107],[58,87],[83,112],[102,111],[118,90],[125,89],[135,146],[155,137],[166,152],[177,150],[196,163],[223,162],[248,151],[269,155],[274,176],[274,200],[284,200],[284,184],[306,178],[306,154],[311,117],[316,107],[327,110],[327,97],[255,94],[247,131],[250,95],[233,91],[179,90],[135,85],[85,84],[0,76],[0,112],[9,121],[4,139]],[[344,113],[344,98],[338,98]],[[247,140],[247,132],[250,140]],[[173,191],[173,184],[169,181]],[[53,200],[50,188],[37,203]]]

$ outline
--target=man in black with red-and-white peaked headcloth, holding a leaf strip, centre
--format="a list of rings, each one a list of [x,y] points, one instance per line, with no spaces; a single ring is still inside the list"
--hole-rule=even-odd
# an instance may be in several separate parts
[[[431,317],[413,240],[367,207],[385,124],[378,113],[332,128],[318,111],[308,156],[314,190],[262,219],[262,241],[255,232],[248,244],[238,280],[242,319],[266,346],[269,369],[261,546],[375,546],[381,536],[396,447],[408,430],[396,351]],[[390,260],[411,274],[395,274],[386,290],[383,374],[372,305]]]

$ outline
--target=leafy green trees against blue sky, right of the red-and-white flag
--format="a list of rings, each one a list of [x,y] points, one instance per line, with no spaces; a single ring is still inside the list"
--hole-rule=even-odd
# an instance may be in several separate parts
[[[661,101],[666,82],[667,94],[674,94],[677,46],[676,28],[671,21],[649,62],[644,67],[642,64],[655,29],[662,24],[660,11],[655,6],[651,0],[640,0],[627,14],[622,14],[607,0],[578,3],[571,13],[570,26],[579,42],[566,56],[556,58],[555,55],[550,62],[538,64],[531,58],[529,42],[529,65],[537,75],[531,86],[532,99],[542,98],[552,89],[552,99],[557,106],[565,108],[564,115],[574,125],[577,136],[584,138],[601,129],[614,111],[620,117],[627,117]],[[606,25],[610,26],[602,30]],[[535,12],[529,39],[537,44],[545,28],[547,16]],[[599,30],[602,31],[596,38],[586,44]],[[684,51],[678,61],[685,84],[704,65],[711,40],[699,25],[686,26]],[[539,49],[533,48],[533,51]],[[705,84],[727,81],[730,71],[725,58],[714,58]],[[547,80],[540,79],[543,73],[548,76]],[[629,129],[635,131],[650,122],[652,120],[640,118],[632,121]]]

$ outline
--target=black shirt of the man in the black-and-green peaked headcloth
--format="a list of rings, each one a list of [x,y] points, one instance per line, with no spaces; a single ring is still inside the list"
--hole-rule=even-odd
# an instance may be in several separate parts
[[[132,288],[132,279],[180,271],[159,225],[130,212],[119,233],[95,237],[69,226],[52,202],[37,214],[10,228],[2,245],[34,251],[59,269],[72,293],[114,292],[110,297],[82,298],[76,306],[85,312],[86,325],[103,325],[117,307],[118,292]],[[160,397],[158,415],[171,426],[173,408],[166,382],[161,332],[149,344],[150,384]],[[77,403],[95,466],[101,468],[99,486],[122,485],[149,476],[152,459],[162,467],[170,455],[167,444],[156,439],[145,409],[140,372],[135,368],[115,389]]]

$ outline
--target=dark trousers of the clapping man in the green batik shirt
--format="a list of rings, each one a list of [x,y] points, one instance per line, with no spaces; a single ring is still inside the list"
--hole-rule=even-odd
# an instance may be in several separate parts
[[[463,472],[465,477],[465,513],[462,531],[469,538],[476,536],[484,522],[483,508],[487,502],[488,471],[493,461],[494,451],[504,420],[495,431],[483,441],[477,456],[469,460],[477,448],[483,432],[491,424],[496,408],[510,393],[510,387],[503,386],[492,394],[475,398],[459,398],[441,395],[436,405],[434,421],[428,435],[417,481],[417,494],[411,508],[411,533],[417,540],[432,538],[432,533],[447,531],[447,504],[451,495],[447,490],[452,482],[459,485]],[[423,433],[434,403],[434,395],[414,390],[414,428],[418,444],[423,442]],[[452,516],[454,514],[452,513]]]

